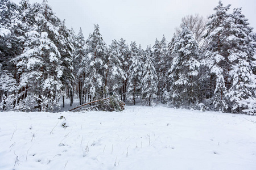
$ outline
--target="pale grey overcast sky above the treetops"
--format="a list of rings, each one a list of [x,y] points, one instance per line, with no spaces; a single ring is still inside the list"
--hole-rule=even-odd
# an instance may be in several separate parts
[[[13,0],[19,2],[19,0]],[[219,0],[48,0],[53,12],[66,20],[68,28],[78,33],[80,27],[87,39],[94,25],[100,25],[100,32],[106,44],[112,40],[125,39],[127,44],[136,41],[154,45],[165,35],[170,41],[174,28],[179,26],[181,18],[188,14],[200,14],[207,17],[213,14],[213,8]],[[42,0],[30,0],[42,2]],[[224,5],[233,8],[242,7],[242,13],[249,19],[251,27],[256,28],[255,0],[222,0]],[[254,32],[256,29],[254,30]]]

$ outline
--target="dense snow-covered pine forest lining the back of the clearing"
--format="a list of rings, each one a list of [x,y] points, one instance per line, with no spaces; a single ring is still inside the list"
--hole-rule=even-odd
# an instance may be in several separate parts
[[[142,105],[256,113],[256,33],[220,1],[208,19],[184,16],[170,41],[142,49],[85,39],[44,0],[0,1],[0,110],[52,112],[109,96]],[[170,21],[171,23],[171,21]],[[139,99],[139,100],[138,100]],[[60,101],[63,103],[60,104]]]

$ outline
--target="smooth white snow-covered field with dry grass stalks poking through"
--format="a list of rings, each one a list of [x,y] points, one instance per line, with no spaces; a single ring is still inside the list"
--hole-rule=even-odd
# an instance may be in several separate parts
[[[249,120],[256,117],[162,106],[0,112],[0,169],[255,170],[256,124]]]

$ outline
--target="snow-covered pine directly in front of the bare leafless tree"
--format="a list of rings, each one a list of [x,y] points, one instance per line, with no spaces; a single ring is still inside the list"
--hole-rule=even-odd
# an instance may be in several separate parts
[[[199,84],[197,82],[200,63],[198,45],[193,33],[183,25],[182,31],[175,39],[176,53],[169,70],[170,95],[174,107],[193,107],[198,103]]]

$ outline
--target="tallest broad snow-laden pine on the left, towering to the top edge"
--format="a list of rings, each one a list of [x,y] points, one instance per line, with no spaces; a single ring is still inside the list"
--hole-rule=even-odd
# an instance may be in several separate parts
[[[46,1],[42,5],[34,3],[27,14],[35,17],[26,20],[27,25],[32,25],[25,33],[22,54],[13,59],[18,69],[20,89],[16,108],[30,111],[37,104],[39,111],[53,111],[59,108],[58,100],[63,87],[63,62],[55,45],[56,39],[60,37],[60,20]]]

